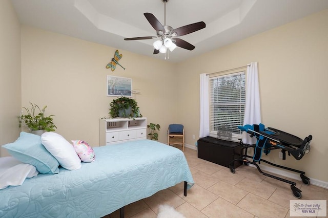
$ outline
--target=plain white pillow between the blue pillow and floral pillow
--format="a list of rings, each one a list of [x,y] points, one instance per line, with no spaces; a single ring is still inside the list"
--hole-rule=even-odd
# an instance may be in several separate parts
[[[41,142],[65,169],[73,170],[81,168],[81,160],[77,156],[73,145],[63,136],[57,133],[47,132],[42,134]]]

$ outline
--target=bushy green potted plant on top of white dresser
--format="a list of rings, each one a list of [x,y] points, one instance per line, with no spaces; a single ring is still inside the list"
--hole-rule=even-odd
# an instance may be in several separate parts
[[[142,117],[136,100],[132,98],[121,96],[119,98],[113,99],[113,101],[109,105],[111,107],[109,110],[109,114],[111,115],[112,118]]]

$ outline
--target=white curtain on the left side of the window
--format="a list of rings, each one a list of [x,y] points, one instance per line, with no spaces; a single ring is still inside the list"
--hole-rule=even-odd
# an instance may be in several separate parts
[[[200,74],[200,126],[199,138],[210,135],[209,75]]]

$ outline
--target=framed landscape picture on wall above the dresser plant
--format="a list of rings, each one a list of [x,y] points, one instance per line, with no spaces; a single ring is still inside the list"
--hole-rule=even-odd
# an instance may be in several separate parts
[[[107,96],[131,97],[132,78],[107,75]]]

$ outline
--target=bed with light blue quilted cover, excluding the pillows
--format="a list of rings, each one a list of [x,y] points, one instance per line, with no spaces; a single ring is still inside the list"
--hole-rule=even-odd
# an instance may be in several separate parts
[[[187,195],[194,183],[183,152],[157,141],[93,149],[95,161],[80,169],[59,167],[1,189],[0,217],[101,217],[183,181]]]

